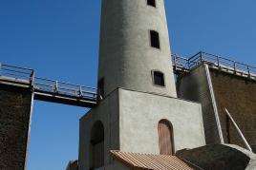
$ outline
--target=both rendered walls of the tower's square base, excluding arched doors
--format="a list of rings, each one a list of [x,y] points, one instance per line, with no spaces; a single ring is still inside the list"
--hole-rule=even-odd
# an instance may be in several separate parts
[[[80,120],[79,170],[90,168],[91,129],[101,121],[105,130],[105,167],[110,150],[160,154],[158,123],[173,124],[175,150],[205,144],[201,104],[118,88]]]

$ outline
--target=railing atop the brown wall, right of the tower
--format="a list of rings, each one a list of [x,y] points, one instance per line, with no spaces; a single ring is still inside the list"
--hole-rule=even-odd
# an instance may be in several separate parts
[[[174,66],[183,66],[188,70],[191,70],[194,67],[201,65],[202,63],[206,63],[211,66],[232,70],[234,73],[247,74],[248,76],[256,75],[255,66],[248,66],[243,63],[206,52],[199,52],[190,58],[183,58],[178,55],[172,55],[172,59]]]

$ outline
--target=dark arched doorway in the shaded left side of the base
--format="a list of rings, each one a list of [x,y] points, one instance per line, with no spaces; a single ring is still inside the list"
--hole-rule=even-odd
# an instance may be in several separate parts
[[[104,165],[104,126],[97,121],[91,130],[91,165],[90,169]]]

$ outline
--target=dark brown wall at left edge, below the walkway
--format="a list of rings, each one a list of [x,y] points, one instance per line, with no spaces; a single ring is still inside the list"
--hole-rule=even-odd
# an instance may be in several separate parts
[[[0,169],[25,168],[31,104],[30,89],[0,85]]]

